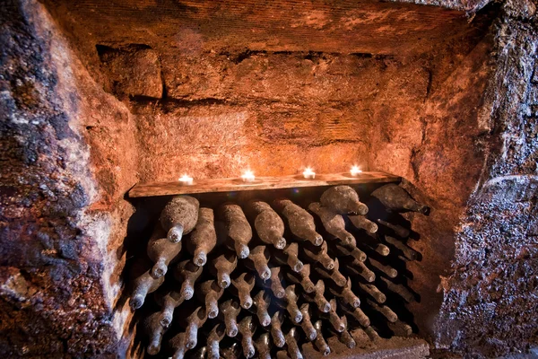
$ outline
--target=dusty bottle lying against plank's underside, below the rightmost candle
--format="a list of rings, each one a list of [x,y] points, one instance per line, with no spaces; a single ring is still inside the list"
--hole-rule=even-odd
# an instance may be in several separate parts
[[[349,186],[334,186],[325,190],[319,202],[340,215],[368,213],[368,206],[360,202],[357,192]]]

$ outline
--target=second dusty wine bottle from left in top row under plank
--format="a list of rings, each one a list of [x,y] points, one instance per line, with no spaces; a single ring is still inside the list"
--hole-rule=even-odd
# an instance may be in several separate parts
[[[203,267],[207,261],[207,254],[217,243],[213,209],[200,208],[195,230],[187,240],[187,250],[194,256],[193,263],[198,267]]]

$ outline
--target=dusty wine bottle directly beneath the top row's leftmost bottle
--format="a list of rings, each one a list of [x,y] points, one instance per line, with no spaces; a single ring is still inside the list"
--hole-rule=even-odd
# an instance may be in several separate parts
[[[168,271],[170,261],[178,256],[180,250],[181,242],[169,241],[166,233],[161,228],[161,224],[158,223],[150,241],[148,241],[148,257],[154,263],[150,275],[153,278],[164,276]]]

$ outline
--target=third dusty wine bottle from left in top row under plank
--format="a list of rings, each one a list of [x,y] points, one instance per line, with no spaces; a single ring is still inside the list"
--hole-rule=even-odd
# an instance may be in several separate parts
[[[240,206],[234,204],[224,204],[220,208],[221,217],[226,224],[228,238],[240,259],[247,258],[250,250],[248,243],[252,240],[252,228],[247,221],[247,217],[243,213]]]

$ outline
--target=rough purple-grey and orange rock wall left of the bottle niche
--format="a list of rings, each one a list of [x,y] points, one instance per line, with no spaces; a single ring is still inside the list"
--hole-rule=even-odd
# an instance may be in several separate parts
[[[133,123],[42,5],[5,2],[0,23],[0,355],[121,352],[116,250],[135,179],[114,148]]]

